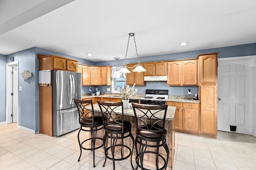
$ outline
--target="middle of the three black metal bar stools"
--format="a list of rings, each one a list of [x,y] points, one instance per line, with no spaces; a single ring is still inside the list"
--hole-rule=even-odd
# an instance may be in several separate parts
[[[129,121],[124,121],[124,107],[123,102],[100,102],[97,101],[104,117],[103,129],[105,134],[103,136],[103,144],[105,151],[105,166],[107,158],[113,161],[113,170],[115,170],[115,161],[124,160],[131,156],[132,165],[132,152],[134,149],[134,137],[132,135],[132,124]],[[124,145],[124,139],[130,137],[132,139],[132,149]],[[106,146],[106,139],[110,139],[110,146]],[[121,140],[121,141],[120,141]],[[118,143],[117,143],[118,141]],[[117,150],[116,147],[120,147],[121,158],[116,158],[114,153]],[[124,156],[124,148],[128,149],[128,154]],[[111,155],[108,156],[108,150],[111,151]],[[134,169],[132,165],[132,169]]]

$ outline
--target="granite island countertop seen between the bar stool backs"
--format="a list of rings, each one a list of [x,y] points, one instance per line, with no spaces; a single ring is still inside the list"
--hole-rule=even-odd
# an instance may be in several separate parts
[[[144,105],[144,104],[141,104],[141,105]],[[144,106],[153,106],[153,105],[144,105]],[[98,104],[94,104],[93,109],[94,109],[94,111],[100,112],[100,107],[99,107]],[[176,107],[168,106],[167,113],[166,113],[166,120],[172,120],[174,118],[175,110],[176,110]],[[116,109],[116,113],[122,114],[122,110],[121,109]],[[161,112],[156,113],[156,114],[157,115],[158,114],[162,115]],[[129,104],[128,108],[124,108],[124,115],[134,116],[134,111],[132,109],[132,104]]]

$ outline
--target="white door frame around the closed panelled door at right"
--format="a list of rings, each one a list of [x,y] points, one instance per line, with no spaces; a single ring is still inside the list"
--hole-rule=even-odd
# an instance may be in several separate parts
[[[250,56],[242,56],[242,57],[227,57],[227,58],[219,58],[218,62],[221,61],[232,61],[232,60],[244,60],[251,59],[252,60],[252,135],[256,137],[256,55]],[[219,84],[218,84],[219,86]]]

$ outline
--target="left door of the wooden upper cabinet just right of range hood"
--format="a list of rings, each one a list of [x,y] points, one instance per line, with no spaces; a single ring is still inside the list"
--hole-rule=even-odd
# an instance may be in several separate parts
[[[168,62],[167,85],[180,85],[181,61]]]

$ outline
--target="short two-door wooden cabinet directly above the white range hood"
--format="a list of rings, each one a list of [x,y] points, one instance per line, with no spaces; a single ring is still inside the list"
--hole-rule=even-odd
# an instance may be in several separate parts
[[[166,62],[143,63],[146,72],[144,76],[165,76],[167,74]]]

